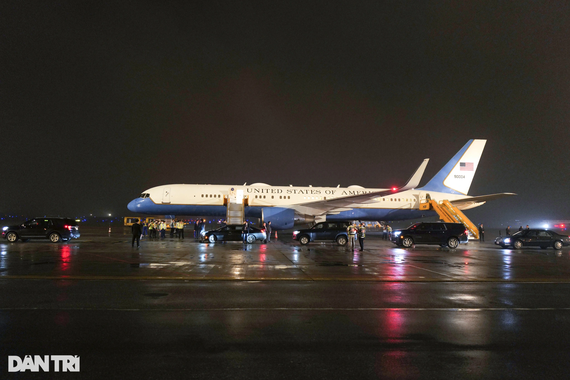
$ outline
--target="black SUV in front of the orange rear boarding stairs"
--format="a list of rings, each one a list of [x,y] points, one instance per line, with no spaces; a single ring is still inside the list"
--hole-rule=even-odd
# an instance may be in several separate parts
[[[462,223],[424,222],[405,230],[392,231],[390,240],[405,248],[412,247],[413,244],[439,244],[441,247],[457,248],[460,243],[467,243],[468,235]]]

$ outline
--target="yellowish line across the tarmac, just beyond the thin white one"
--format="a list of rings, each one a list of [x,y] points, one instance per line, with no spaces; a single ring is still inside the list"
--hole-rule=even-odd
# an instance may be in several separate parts
[[[508,284],[564,284],[568,279],[391,279],[354,277],[182,277],[182,276],[0,276],[0,280],[159,280],[159,281],[341,281],[341,282],[383,282],[383,283],[508,283]]]

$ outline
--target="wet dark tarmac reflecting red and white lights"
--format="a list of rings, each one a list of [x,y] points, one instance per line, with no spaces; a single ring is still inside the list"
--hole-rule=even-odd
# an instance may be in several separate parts
[[[488,240],[494,236],[487,234]],[[491,238],[492,237],[492,238]],[[2,378],[565,378],[570,250],[0,243]],[[79,373],[6,358],[79,355]],[[53,369],[52,369],[53,370]]]

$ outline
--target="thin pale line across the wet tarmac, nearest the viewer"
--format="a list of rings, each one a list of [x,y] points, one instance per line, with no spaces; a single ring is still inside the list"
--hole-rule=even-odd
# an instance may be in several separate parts
[[[292,310],[292,311],[444,311],[444,312],[480,312],[480,311],[556,311],[570,308],[0,308],[0,311],[17,310],[100,310],[100,311],[141,311],[141,312],[202,312],[202,311],[255,311],[255,310]]]

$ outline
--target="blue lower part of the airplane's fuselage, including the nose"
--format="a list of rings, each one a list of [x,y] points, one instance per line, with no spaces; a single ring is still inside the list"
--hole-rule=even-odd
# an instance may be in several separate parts
[[[245,207],[246,218],[261,218],[259,206]],[[157,205],[150,198],[137,198],[131,201],[128,209],[134,213],[150,215],[177,215],[177,216],[215,216],[225,218],[226,206],[223,205]],[[327,215],[327,220],[368,220],[391,221],[435,216],[434,211],[420,211],[410,209],[352,209],[339,214]],[[274,228],[275,229],[275,228]]]

